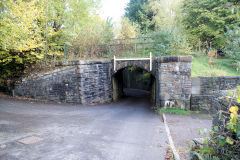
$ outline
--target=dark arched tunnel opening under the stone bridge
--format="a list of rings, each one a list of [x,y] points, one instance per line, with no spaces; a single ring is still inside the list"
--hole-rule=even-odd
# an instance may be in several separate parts
[[[155,106],[156,79],[147,70],[135,66],[122,68],[112,76],[112,84],[114,101],[131,98],[145,100],[151,107]]]

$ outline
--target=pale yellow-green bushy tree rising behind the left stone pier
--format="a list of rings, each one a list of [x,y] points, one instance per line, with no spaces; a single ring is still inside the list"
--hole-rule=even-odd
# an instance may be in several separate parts
[[[70,57],[93,57],[100,56],[106,50],[105,44],[112,42],[113,25],[110,20],[107,22],[98,16],[91,16],[91,21],[85,23],[72,39]],[[101,48],[103,47],[103,48]]]

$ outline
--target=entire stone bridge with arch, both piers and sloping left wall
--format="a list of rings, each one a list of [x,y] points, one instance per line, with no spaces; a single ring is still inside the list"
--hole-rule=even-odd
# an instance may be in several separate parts
[[[151,73],[151,97],[155,106],[163,107],[165,102],[171,101],[175,107],[190,109],[191,105],[199,104],[204,99],[205,95],[201,95],[203,92],[199,89],[206,86],[194,83],[196,86],[192,87],[191,62],[191,56],[158,57],[152,60],[152,70],[149,60],[116,61],[115,70],[114,60],[59,62],[59,68],[54,71],[17,82],[13,94],[84,105],[117,101],[123,92],[121,70],[135,66]],[[240,77],[235,77],[234,83],[229,79],[219,81],[220,85],[225,82],[231,83],[231,88],[240,85]],[[209,79],[203,80],[207,82]],[[212,82],[212,79],[209,81]],[[190,103],[192,88],[199,90],[194,92],[194,104]]]

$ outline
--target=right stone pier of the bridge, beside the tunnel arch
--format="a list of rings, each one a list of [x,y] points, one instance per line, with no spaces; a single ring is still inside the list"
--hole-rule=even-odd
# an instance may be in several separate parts
[[[172,101],[175,107],[189,109],[192,57],[159,57],[157,62],[157,105]]]

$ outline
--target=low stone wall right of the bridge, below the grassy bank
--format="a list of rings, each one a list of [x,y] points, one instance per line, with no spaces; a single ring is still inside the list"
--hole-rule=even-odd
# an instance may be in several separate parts
[[[191,109],[213,112],[216,96],[227,95],[240,86],[237,77],[194,77],[192,78]]]

